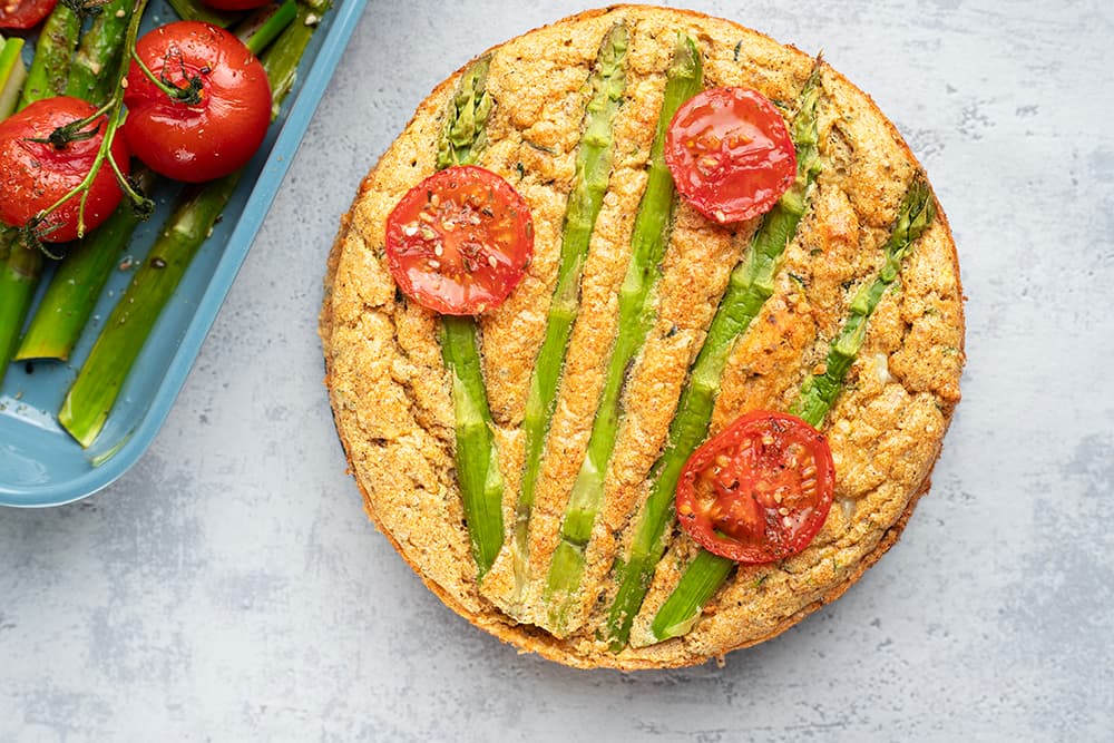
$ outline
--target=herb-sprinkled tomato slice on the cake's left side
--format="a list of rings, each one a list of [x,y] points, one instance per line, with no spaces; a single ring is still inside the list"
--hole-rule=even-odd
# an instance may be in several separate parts
[[[466,165],[411,188],[387,218],[387,262],[430,310],[472,315],[505,299],[534,254],[530,209],[509,183]]]

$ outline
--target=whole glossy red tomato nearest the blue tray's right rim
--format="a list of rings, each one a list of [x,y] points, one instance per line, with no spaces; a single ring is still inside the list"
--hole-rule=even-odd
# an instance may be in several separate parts
[[[232,33],[199,21],[159,27],[136,45],[156,77],[201,80],[201,101],[172,100],[133,61],[124,136],[134,155],[175,180],[202,183],[244,166],[271,121],[271,86],[260,60]]]

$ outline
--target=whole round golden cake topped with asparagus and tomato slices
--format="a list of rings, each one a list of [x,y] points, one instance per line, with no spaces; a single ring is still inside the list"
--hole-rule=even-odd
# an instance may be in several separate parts
[[[365,507],[522,651],[683,666],[898,538],[959,401],[955,244],[822,59],[617,6],[477,57],[362,183],[321,338]]]

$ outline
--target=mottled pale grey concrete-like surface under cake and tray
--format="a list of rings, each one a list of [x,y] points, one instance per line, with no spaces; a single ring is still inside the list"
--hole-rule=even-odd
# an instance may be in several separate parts
[[[344,473],[325,253],[439,80],[587,6],[371,0],[150,451],[84,502],[0,511],[0,740],[1111,740],[1114,11],[685,4],[823,48],[951,219],[965,400],[898,546],[723,668],[567,669],[422,587]]]

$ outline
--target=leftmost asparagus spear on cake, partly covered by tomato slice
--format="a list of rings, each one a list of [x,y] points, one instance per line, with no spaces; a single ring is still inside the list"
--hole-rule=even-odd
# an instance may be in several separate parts
[[[491,113],[486,94],[489,57],[465,70],[438,143],[437,167],[473,165],[483,149],[483,127]],[[502,547],[502,475],[491,433],[491,410],[480,361],[476,320],[441,317],[441,358],[452,377],[457,434],[457,480],[472,557],[482,580]]]

